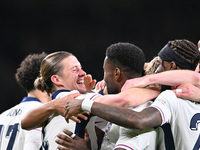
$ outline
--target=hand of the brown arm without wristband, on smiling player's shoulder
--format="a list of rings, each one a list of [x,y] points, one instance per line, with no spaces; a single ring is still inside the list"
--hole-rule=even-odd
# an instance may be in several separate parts
[[[54,106],[57,112],[61,114],[62,116],[64,116],[64,114],[66,113],[65,105],[67,104],[67,102],[72,99],[75,99],[79,95],[80,93],[75,93],[75,94],[69,94],[60,99],[55,99],[53,102],[54,102]]]

